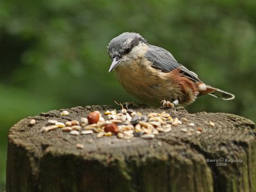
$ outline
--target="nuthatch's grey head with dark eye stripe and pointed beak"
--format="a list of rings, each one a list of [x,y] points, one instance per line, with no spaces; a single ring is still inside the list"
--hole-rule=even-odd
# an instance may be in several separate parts
[[[108,45],[108,54],[112,61],[109,72],[123,61],[129,61],[136,56],[136,53],[140,52],[141,45],[145,43],[147,41],[138,33],[125,32],[113,38]]]

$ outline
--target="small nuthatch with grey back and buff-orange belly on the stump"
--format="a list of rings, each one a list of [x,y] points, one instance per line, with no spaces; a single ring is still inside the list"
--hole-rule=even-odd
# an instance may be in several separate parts
[[[113,38],[108,54],[109,72],[114,70],[124,89],[147,106],[184,106],[202,95],[224,100],[235,98],[232,93],[203,83],[169,51],[150,45],[138,33],[125,32]]]

